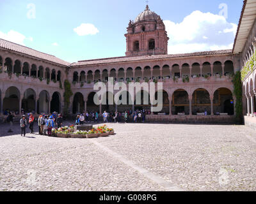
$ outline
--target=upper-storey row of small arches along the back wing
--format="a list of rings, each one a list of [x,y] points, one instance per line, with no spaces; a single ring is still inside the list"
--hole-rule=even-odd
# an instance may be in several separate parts
[[[196,78],[196,77],[221,77],[234,74],[234,65],[230,60],[220,62],[204,62],[200,64],[173,64],[164,66],[134,66],[121,68],[82,69],[72,73],[73,82],[107,82],[108,77],[113,77],[115,82],[138,81],[138,80],[167,80],[170,78]]]

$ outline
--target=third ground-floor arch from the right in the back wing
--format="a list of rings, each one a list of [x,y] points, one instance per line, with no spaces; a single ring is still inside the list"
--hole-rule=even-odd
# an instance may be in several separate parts
[[[172,95],[172,115],[189,115],[189,95],[184,89],[177,89]]]

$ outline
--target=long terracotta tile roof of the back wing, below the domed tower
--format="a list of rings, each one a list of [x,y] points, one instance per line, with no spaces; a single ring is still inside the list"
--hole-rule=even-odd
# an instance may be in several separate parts
[[[144,60],[154,60],[154,59],[172,59],[179,57],[193,57],[193,56],[207,56],[207,55],[224,55],[232,54],[232,50],[215,50],[215,51],[205,51],[205,52],[193,52],[187,54],[172,54],[172,55],[145,55],[138,57],[111,57],[104,59],[92,59],[85,61],[78,61],[71,64],[71,67],[74,66],[86,66],[93,64],[109,64],[114,62],[131,62],[131,61],[144,61]]]

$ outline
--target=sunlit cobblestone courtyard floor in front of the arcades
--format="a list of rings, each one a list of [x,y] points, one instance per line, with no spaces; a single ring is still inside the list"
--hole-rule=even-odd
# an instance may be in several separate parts
[[[6,135],[1,124],[0,191],[256,191],[249,128],[108,126],[116,135],[76,139],[24,138],[17,124]]]

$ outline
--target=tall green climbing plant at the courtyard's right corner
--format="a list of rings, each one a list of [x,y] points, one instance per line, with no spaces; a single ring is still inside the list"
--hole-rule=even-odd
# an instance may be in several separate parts
[[[236,118],[239,122],[242,121],[243,103],[242,103],[242,82],[241,72],[237,71],[233,77],[234,95],[236,96]]]

